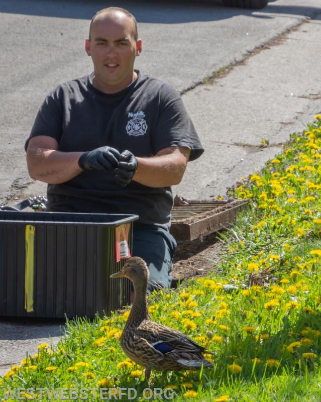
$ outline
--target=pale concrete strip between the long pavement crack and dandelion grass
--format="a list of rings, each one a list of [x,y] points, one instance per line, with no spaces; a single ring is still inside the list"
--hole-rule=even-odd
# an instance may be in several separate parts
[[[319,16],[320,17],[320,16]],[[281,152],[293,132],[301,132],[321,112],[317,49],[320,19],[303,22],[289,34],[254,53],[213,85],[199,85],[183,100],[206,149],[188,165],[173,192],[186,198],[224,194],[240,177],[261,169]],[[270,145],[261,148],[262,139]],[[22,198],[45,194],[43,183],[24,189]],[[42,342],[55,345],[60,324],[2,321],[0,375],[37,352]]]

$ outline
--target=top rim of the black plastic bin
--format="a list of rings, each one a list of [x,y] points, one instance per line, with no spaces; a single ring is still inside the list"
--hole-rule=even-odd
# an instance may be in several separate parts
[[[6,218],[9,215],[15,215],[17,217],[21,217],[21,219],[2,219],[2,216],[6,215]],[[37,217],[38,215],[46,215],[46,216],[67,216],[72,215],[74,217],[115,217],[115,221],[111,222],[90,222],[90,221],[74,221],[74,220],[65,220],[65,221],[54,221],[54,220],[37,220],[31,219],[31,217]],[[26,217],[26,219],[23,219]],[[29,217],[29,219],[28,219]],[[25,211],[1,211],[0,212],[0,224],[1,223],[14,223],[14,224],[26,224],[26,225],[80,225],[80,226],[119,226],[125,223],[130,223],[139,219],[138,215],[130,215],[130,214],[96,214],[96,213],[78,213],[78,212],[25,212]]]

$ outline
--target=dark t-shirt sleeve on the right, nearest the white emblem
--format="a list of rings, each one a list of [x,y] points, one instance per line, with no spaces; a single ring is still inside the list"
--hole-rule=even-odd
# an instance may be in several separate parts
[[[158,122],[153,133],[155,153],[168,146],[187,147],[191,150],[189,160],[197,159],[204,148],[181,96],[167,84],[160,93]]]

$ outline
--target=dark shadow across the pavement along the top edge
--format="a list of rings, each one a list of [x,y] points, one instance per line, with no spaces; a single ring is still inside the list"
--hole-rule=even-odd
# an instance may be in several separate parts
[[[260,14],[255,10],[226,8],[221,0],[163,0],[150,2],[140,0],[137,2],[118,2],[118,7],[123,7],[132,12],[139,23],[180,24],[188,22],[217,21],[232,18],[238,15],[252,16],[255,18],[273,18],[269,14],[300,15],[313,18],[321,13],[321,7],[304,6],[278,6],[271,1]],[[0,12],[9,14],[22,14],[44,17],[58,17],[71,19],[90,20],[97,10],[114,6],[114,2],[87,0],[0,0]],[[170,12],[168,9],[170,8]],[[219,9],[219,13],[218,13]],[[254,14],[253,14],[254,13]],[[264,13],[267,13],[264,16]]]

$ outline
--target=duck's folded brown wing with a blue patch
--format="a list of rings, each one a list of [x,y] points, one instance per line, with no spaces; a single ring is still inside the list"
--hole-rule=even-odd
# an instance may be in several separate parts
[[[152,320],[142,321],[137,328],[137,335],[146,339],[151,346],[162,353],[172,350],[190,353],[211,353],[182,332],[157,324]]]

